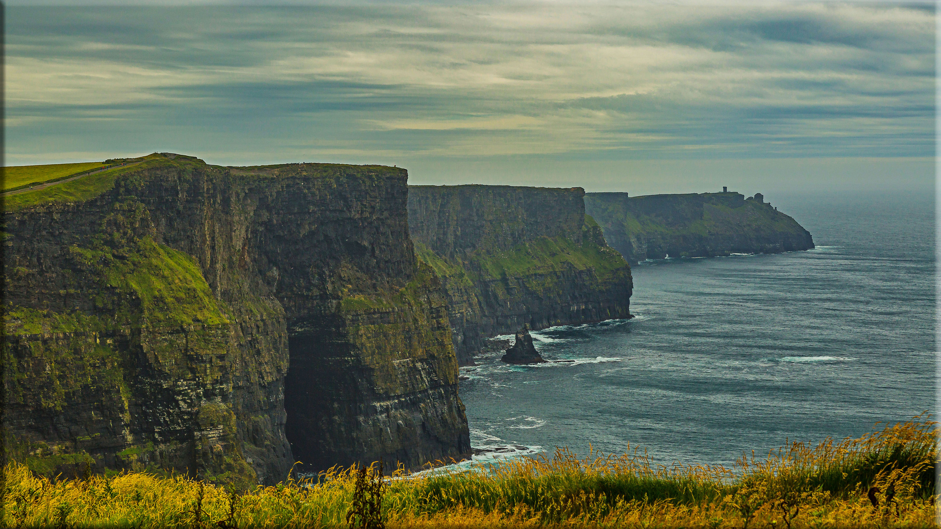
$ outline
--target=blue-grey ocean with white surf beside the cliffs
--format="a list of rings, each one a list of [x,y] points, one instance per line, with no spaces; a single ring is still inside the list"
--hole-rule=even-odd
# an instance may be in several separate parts
[[[636,317],[533,333],[572,362],[461,368],[476,459],[727,467],[935,409],[933,196],[768,199],[816,249],[632,264]]]

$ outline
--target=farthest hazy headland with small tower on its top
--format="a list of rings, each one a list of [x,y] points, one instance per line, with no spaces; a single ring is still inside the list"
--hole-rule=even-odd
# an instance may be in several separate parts
[[[810,233],[760,194],[745,200],[732,192],[646,197],[588,193],[585,211],[630,263],[814,248]]]

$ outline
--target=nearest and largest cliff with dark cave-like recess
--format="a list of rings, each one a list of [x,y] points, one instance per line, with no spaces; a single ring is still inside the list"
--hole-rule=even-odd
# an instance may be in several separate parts
[[[404,170],[152,155],[103,174],[8,200],[13,457],[271,483],[298,459],[470,450]]]

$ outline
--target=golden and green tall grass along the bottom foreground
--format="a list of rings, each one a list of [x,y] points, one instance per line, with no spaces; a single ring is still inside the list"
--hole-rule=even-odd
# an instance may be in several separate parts
[[[922,417],[856,440],[792,443],[731,470],[559,450],[387,480],[382,512],[389,528],[935,527],[936,450]],[[16,463],[6,471],[0,525],[24,527],[343,527],[356,479],[348,469],[239,493],[144,473],[56,482]]]

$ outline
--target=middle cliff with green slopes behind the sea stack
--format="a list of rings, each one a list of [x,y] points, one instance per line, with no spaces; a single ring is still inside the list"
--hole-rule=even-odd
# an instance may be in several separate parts
[[[408,227],[448,298],[461,365],[483,337],[630,317],[630,266],[581,187],[410,185]]]

